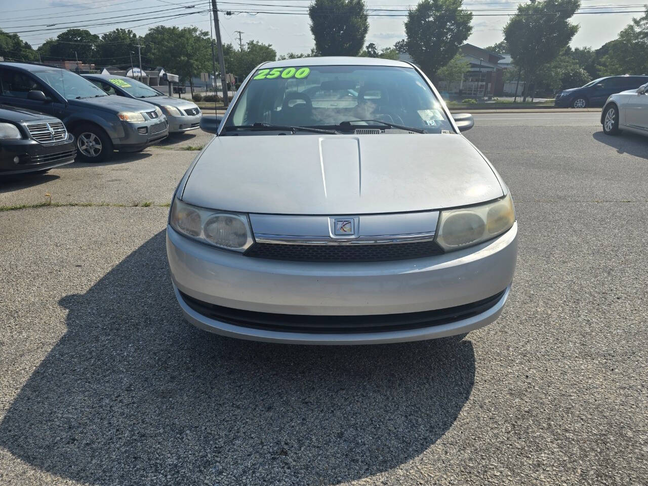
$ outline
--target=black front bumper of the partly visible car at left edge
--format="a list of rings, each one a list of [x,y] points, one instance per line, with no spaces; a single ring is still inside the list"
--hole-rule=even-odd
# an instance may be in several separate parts
[[[16,161],[17,157],[17,161]],[[0,141],[0,174],[25,174],[69,164],[76,157],[75,137],[49,144],[32,139]]]

